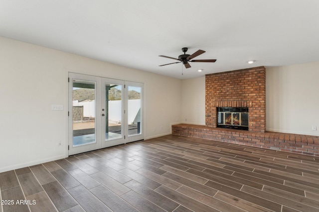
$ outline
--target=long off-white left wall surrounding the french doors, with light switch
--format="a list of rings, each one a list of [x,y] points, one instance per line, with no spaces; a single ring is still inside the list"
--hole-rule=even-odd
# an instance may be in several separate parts
[[[145,83],[145,139],[181,120],[179,79],[2,37],[0,47],[0,172],[67,156],[68,72]]]

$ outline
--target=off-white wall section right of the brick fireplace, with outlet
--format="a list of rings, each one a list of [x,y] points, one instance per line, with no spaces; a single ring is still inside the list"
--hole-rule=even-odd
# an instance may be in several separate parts
[[[266,130],[319,136],[319,62],[266,68]]]

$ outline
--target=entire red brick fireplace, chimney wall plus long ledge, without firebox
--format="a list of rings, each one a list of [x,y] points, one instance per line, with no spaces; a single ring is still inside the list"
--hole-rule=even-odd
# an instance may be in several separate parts
[[[319,137],[266,132],[264,67],[206,75],[206,125],[178,124],[172,134],[319,156]],[[248,107],[249,131],[216,128],[217,107]]]

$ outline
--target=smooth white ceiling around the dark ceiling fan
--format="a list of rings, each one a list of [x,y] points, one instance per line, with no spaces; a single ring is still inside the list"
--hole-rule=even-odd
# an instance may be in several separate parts
[[[185,79],[319,61],[319,0],[0,0],[0,36]]]

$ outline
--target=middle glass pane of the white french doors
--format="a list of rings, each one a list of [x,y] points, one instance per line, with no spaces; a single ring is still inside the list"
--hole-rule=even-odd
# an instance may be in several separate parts
[[[122,85],[105,84],[106,114],[105,141],[119,139],[123,136],[122,129]]]

